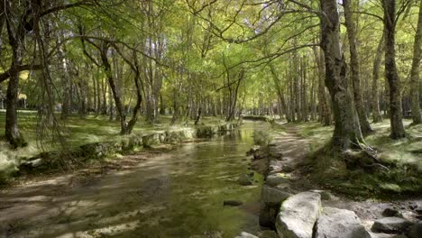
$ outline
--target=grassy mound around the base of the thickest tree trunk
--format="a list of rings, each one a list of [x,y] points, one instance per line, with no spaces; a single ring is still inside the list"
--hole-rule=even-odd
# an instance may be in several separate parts
[[[398,141],[389,137],[389,120],[372,124],[374,133],[368,135],[365,141],[373,148],[375,158],[386,168],[351,167],[347,156],[353,151],[347,154],[330,152],[326,144],[331,140],[333,127],[307,123],[297,124],[296,128],[297,133],[309,142],[311,153],[307,169],[314,181],[351,197],[391,199],[400,195],[422,195],[422,125],[411,126],[410,123],[404,121],[408,137]]]

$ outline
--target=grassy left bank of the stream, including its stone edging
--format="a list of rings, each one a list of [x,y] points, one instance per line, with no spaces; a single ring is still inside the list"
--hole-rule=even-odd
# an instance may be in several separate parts
[[[28,142],[28,146],[12,150],[7,142],[0,142],[0,180],[5,180],[5,177],[15,173],[16,168],[21,162],[34,156],[40,156],[41,152],[51,151],[50,154],[52,154],[53,157],[60,157],[60,154],[55,154],[53,151],[71,151],[72,154],[77,153],[79,157],[87,157],[89,155],[86,156],[86,152],[81,150],[127,151],[126,147],[128,146],[142,147],[142,145],[144,145],[142,143],[147,141],[161,141],[162,139],[155,138],[154,136],[149,138],[147,136],[149,134],[160,134],[161,137],[166,137],[166,140],[168,141],[177,142],[179,141],[179,138],[173,137],[183,137],[183,133],[191,133],[192,128],[197,127],[197,130],[194,130],[194,132],[197,131],[197,133],[202,133],[201,130],[205,127],[204,124],[212,127],[225,123],[216,117],[204,117],[201,121],[201,125],[198,126],[195,126],[193,121],[170,125],[171,117],[161,116],[160,121],[157,124],[148,124],[144,118],[140,117],[133,129],[133,135],[122,136],[119,134],[119,122],[110,121],[106,116],[87,115],[83,118],[79,116],[70,116],[67,120],[60,121],[60,124],[62,124],[62,139],[64,140],[64,143],[60,144],[57,139],[49,138],[42,138],[43,142],[40,142],[40,138],[37,138],[37,134],[39,133],[37,132],[38,119],[36,113],[20,111],[18,118],[20,130],[23,133],[25,140]],[[1,134],[4,134],[4,128],[5,113],[0,112]],[[50,156],[49,153],[44,154]]]

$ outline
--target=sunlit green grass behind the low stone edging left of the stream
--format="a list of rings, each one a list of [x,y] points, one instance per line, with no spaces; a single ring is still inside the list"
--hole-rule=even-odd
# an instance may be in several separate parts
[[[60,114],[57,114],[60,118]],[[128,118],[130,118],[128,116]],[[184,127],[194,126],[194,122],[189,120],[182,124],[170,125],[171,116],[161,115],[157,124],[149,124],[145,118],[140,116],[133,133],[146,134],[155,131],[165,131],[168,129],[178,129]],[[216,117],[203,117],[201,124],[219,124],[222,120]],[[5,153],[7,157],[30,157],[40,152],[40,140],[37,140],[37,113],[34,111],[19,111],[18,124],[23,137],[28,142],[28,146],[11,151],[6,142],[0,142],[0,150]],[[115,140],[116,137],[121,137],[120,123],[118,121],[110,121],[105,115],[87,115],[80,117],[78,115],[69,116],[65,121],[60,121],[61,132],[64,135],[65,146],[68,148],[75,148],[83,144],[93,142],[106,142]],[[0,111],[0,136],[5,134],[5,111]],[[51,141],[49,138],[43,139],[43,150],[53,151],[57,150],[59,144],[57,140]]]

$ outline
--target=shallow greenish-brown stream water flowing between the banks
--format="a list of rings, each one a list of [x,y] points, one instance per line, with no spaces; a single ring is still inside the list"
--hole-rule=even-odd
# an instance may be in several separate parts
[[[178,149],[68,188],[58,181],[1,192],[0,223],[6,237],[234,237],[259,230],[261,176],[245,156],[254,130],[246,123],[230,134]],[[223,206],[224,200],[243,206]],[[1,231],[1,230],[0,230]]]

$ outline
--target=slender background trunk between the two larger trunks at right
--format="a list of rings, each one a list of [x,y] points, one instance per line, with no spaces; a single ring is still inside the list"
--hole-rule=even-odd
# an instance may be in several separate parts
[[[380,42],[378,43],[377,52],[373,61],[372,69],[372,121],[374,124],[382,121],[380,110],[380,66],[381,57],[384,50],[384,34],[382,34]]]

